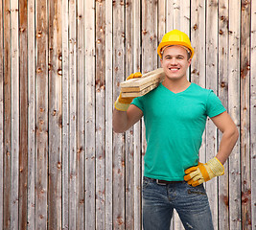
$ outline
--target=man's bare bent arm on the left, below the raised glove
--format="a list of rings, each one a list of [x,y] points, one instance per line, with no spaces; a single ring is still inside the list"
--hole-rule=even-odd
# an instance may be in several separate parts
[[[115,132],[125,132],[132,127],[143,116],[143,112],[134,104],[130,104],[128,111],[120,111],[114,108],[113,111],[113,130]]]

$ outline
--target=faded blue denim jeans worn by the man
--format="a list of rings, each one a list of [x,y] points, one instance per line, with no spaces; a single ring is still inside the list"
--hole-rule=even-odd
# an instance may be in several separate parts
[[[174,209],[185,229],[214,229],[202,184],[192,187],[181,181],[158,185],[154,179],[144,177],[142,195],[144,230],[170,230]]]

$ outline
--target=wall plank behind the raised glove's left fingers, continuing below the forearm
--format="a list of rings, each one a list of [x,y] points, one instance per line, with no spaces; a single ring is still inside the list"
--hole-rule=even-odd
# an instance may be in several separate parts
[[[126,1],[126,76],[133,73],[133,48],[132,48],[132,1]],[[126,229],[134,226],[134,139],[133,127],[126,132]]]

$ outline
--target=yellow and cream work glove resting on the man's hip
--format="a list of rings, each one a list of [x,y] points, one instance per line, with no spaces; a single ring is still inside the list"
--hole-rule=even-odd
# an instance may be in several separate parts
[[[205,164],[198,163],[198,166],[185,170],[186,175],[184,176],[184,180],[187,181],[188,184],[196,187],[215,176],[222,175],[223,173],[224,167],[221,162],[214,157]]]

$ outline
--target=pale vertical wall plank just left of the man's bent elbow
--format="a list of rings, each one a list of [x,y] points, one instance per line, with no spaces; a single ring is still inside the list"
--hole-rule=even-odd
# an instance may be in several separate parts
[[[105,229],[110,230],[112,224],[113,210],[113,174],[112,174],[112,108],[113,108],[113,79],[112,79],[112,56],[113,56],[113,41],[112,41],[112,1],[105,1]]]

